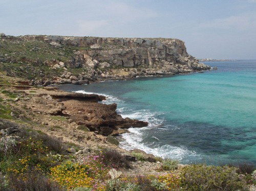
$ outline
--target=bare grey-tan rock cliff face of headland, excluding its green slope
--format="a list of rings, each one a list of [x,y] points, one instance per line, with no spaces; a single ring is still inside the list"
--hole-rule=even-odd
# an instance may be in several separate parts
[[[65,68],[56,83],[87,83],[104,79],[123,79],[148,75],[174,75],[210,69],[187,54],[183,41],[166,38],[101,38],[27,35],[3,40],[43,42],[63,52],[67,59],[47,62],[51,69]],[[73,49],[72,54],[67,53]],[[40,47],[30,51],[40,52]],[[66,51],[66,53],[65,53]],[[65,55],[66,54],[66,55]],[[2,56],[3,57],[3,56]],[[2,59],[4,60],[4,59]],[[41,61],[44,62],[44,61]],[[72,74],[69,68],[86,68],[82,74]]]

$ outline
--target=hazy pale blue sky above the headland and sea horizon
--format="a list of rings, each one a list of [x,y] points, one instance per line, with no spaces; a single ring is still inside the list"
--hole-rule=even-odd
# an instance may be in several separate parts
[[[256,0],[0,0],[0,33],[178,38],[197,58],[256,59]]]

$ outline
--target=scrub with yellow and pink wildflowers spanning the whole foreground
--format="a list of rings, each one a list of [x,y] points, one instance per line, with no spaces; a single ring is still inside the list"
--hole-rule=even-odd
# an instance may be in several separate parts
[[[2,122],[1,128],[13,126]],[[115,168],[131,168],[131,162],[116,150],[103,149],[82,160],[67,154],[63,143],[42,132],[20,129],[18,139],[2,137],[0,142],[1,190],[247,190],[255,182],[255,167],[188,165],[177,171],[176,160],[163,160],[159,175],[121,175],[110,179],[108,172]],[[74,145],[74,144],[71,144]],[[133,153],[134,156],[142,156]],[[138,158],[140,158],[138,157]],[[80,158],[81,159],[81,158]],[[247,174],[248,175],[248,174]],[[243,178],[245,177],[245,178]],[[35,188],[37,187],[37,188]]]

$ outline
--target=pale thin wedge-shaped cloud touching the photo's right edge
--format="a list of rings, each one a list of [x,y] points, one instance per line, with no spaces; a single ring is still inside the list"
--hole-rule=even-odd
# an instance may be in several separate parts
[[[240,31],[256,29],[256,14],[244,13],[203,23],[200,28],[236,29]]]

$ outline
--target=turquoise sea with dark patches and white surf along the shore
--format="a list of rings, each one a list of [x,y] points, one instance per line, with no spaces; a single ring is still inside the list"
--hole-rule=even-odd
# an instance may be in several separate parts
[[[218,70],[60,89],[101,93],[123,117],[149,122],[119,137],[182,163],[256,163],[256,60],[205,62]]]

